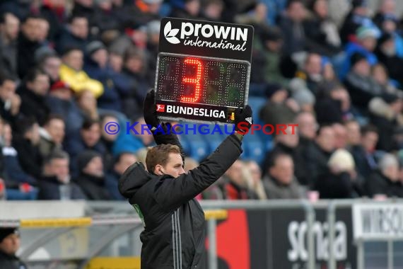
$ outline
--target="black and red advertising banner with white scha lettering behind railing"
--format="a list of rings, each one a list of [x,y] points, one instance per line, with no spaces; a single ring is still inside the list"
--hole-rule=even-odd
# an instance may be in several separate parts
[[[329,225],[326,210],[315,210],[316,268],[327,268]],[[308,263],[308,226],[303,210],[229,210],[218,223],[219,269],[303,269]],[[351,209],[337,210],[332,251],[338,269],[356,268]],[[208,246],[208,240],[207,240]]]

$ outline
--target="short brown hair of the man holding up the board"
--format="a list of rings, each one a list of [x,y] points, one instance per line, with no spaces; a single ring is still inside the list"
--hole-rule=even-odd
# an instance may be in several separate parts
[[[148,149],[146,156],[147,170],[153,173],[157,164],[165,166],[168,163],[170,153],[180,154],[180,148],[173,144],[159,144]]]

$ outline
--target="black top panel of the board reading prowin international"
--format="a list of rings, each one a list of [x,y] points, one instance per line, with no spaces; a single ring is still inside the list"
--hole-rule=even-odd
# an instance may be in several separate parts
[[[159,52],[251,62],[252,25],[163,18]]]

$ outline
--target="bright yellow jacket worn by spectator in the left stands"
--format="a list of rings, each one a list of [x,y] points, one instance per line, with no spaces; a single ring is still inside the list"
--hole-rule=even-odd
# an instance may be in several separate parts
[[[66,66],[66,64],[62,64],[59,74],[60,79],[69,84],[76,93],[84,90],[92,91],[95,98],[103,94],[103,84],[100,81],[91,79],[83,70],[76,71]]]

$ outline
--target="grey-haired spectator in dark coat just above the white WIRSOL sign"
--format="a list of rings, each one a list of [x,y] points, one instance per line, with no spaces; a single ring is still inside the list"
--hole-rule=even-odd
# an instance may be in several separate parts
[[[366,180],[366,195],[387,197],[403,197],[403,185],[399,181],[399,162],[393,154],[385,154],[379,161],[378,169]]]

